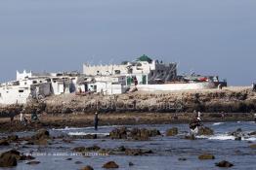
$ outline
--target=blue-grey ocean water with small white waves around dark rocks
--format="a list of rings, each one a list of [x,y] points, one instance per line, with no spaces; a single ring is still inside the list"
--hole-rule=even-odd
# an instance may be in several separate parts
[[[256,136],[244,136],[241,141],[235,141],[229,132],[241,128],[243,132],[248,133],[256,130],[254,122],[215,122],[205,123],[215,131],[213,136],[198,136],[198,140],[183,139],[188,134],[188,124],[160,124],[160,125],[136,125],[136,127],[157,128],[163,134],[166,129],[171,127],[179,128],[179,135],[175,137],[155,137],[149,141],[127,141],[127,140],[110,140],[110,139],[77,139],[73,143],[66,144],[61,140],[56,140],[52,145],[47,147],[31,146],[29,148],[19,147],[21,153],[33,153],[36,160],[41,163],[38,165],[27,165],[26,161],[19,162],[14,170],[69,170],[81,169],[86,165],[91,165],[94,169],[103,169],[102,166],[107,161],[115,161],[120,170],[170,170],[170,169],[219,169],[215,166],[216,162],[228,160],[235,164],[230,169],[256,169],[256,151],[249,148],[251,143],[255,144]],[[98,134],[107,135],[117,126],[101,126],[96,132],[93,127],[63,129],[50,129],[52,135],[86,135]],[[135,127],[135,125],[127,126]],[[21,133],[23,135],[23,133]],[[249,143],[250,141],[250,143]],[[126,156],[126,155],[91,155],[88,157],[77,155],[71,152],[75,147],[91,147],[97,145],[101,148],[115,149],[120,146],[131,149],[151,150],[153,153],[143,156]],[[8,148],[1,148],[2,151]],[[212,153],[215,155],[214,160],[199,160],[197,157],[201,153]],[[184,157],[187,160],[180,161]],[[66,160],[72,158],[72,160]],[[75,164],[80,161],[81,164]],[[134,166],[129,167],[129,162]],[[221,169],[221,168],[220,168]]]

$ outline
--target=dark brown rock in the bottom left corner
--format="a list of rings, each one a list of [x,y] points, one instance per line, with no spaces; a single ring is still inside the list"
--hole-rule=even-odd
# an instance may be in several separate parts
[[[11,151],[2,153],[0,155],[0,167],[13,167],[13,166],[17,166],[16,155],[13,154]]]

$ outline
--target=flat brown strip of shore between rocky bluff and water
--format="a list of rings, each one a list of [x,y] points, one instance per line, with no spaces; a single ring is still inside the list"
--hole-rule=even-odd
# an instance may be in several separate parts
[[[193,113],[104,113],[99,116],[99,126],[189,123],[193,118]],[[20,117],[17,116],[12,123],[10,119],[0,119],[0,132],[33,131],[40,128],[89,127],[94,125],[94,114],[85,115],[83,113],[40,115],[40,121],[30,122],[27,126],[21,124],[19,119]],[[253,115],[233,113],[226,114],[225,118],[222,119],[220,114],[203,113],[202,119],[203,122],[253,121]]]

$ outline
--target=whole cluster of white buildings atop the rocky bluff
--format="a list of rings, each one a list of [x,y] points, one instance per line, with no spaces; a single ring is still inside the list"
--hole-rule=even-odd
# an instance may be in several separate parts
[[[17,71],[16,81],[0,85],[0,104],[24,104],[29,99],[76,93],[121,94],[131,90],[182,90],[215,87],[218,77],[181,77],[176,63],[142,55],[115,65],[83,64],[83,72],[33,73]]]

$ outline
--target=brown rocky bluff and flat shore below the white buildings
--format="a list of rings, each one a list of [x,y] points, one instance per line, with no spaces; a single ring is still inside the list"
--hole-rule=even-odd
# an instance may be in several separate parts
[[[21,112],[28,118],[32,113],[39,116],[40,122],[28,124],[25,127],[28,129],[90,126],[97,111],[101,113],[101,125],[188,122],[194,117],[193,110],[202,112],[204,121],[252,120],[256,110],[255,94],[249,87],[137,91],[115,96],[63,94],[23,106],[0,106],[0,130],[22,130],[24,127],[16,122]],[[15,117],[15,126],[10,123],[10,117]]]

